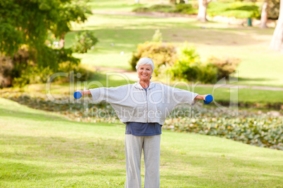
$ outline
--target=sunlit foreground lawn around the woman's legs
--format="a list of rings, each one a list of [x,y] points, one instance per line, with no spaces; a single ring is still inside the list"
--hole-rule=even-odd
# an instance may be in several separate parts
[[[0,104],[0,187],[124,187],[125,126],[68,121],[3,98]],[[163,130],[161,187],[280,187],[282,157]]]

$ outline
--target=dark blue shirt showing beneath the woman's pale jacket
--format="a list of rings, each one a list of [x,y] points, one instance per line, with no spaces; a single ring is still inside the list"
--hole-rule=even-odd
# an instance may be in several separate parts
[[[144,88],[146,92],[147,92],[147,88]],[[159,123],[127,122],[125,134],[130,134],[135,136],[161,135],[161,127],[162,125]]]

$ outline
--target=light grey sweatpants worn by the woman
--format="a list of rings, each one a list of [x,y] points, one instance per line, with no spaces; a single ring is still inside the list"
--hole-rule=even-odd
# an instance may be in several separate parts
[[[144,149],[144,187],[158,188],[161,135],[125,135],[126,182],[125,188],[141,188],[141,158]]]

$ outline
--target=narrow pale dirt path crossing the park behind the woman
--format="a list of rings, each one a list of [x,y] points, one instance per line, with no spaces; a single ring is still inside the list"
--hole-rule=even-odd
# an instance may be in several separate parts
[[[113,67],[95,67],[97,71],[108,71],[108,72],[117,72],[122,73],[127,76],[128,79],[132,81],[138,81],[137,72],[130,71],[127,69],[119,69]],[[247,89],[255,89],[255,90],[283,90],[283,88],[278,87],[269,87],[269,86],[244,86],[244,85],[229,85],[229,84],[198,84],[198,87],[221,87],[221,88],[230,88],[233,86],[238,86],[239,89],[247,88]]]

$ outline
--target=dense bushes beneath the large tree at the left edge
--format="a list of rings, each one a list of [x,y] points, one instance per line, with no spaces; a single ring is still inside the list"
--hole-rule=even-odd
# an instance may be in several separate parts
[[[13,55],[13,60],[5,56],[0,58],[0,60],[5,62],[5,64],[1,63],[0,70],[3,69],[1,73],[6,78],[1,81],[0,74],[1,87],[22,87],[29,83],[44,83],[49,76],[56,72],[80,72],[81,81],[87,80],[89,76],[89,72],[80,66],[80,60],[73,58],[73,51],[70,49],[52,49],[45,46],[42,48],[42,57],[46,58],[42,60],[41,64],[36,63],[34,53],[32,53],[32,50],[30,51],[31,53],[28,51],[27,46],[23,46],[18,53]],[[7,60],[9,64],[6,63]],[[5,67],[3,67],[4,65]],[[65,76],[57,80],[61,82],[68,81]]]

